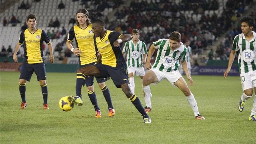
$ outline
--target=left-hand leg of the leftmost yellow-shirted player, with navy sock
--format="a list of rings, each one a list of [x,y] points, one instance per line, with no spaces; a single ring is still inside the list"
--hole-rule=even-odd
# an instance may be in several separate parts
[[[19,75],[19,93],[22,99],[20,109],[25,109],[26,103],[26,81],[30,81],[34,70],[30,64],[23,63]]]

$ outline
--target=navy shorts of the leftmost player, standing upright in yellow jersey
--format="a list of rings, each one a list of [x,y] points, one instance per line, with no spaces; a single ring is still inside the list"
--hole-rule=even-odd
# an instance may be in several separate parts
[[[46,70],[45,70],[45,63],[23,63],[19,79],[26,79],[27,81],[30,81],[31,76],[35,72],[37,76],[37,81],[45,80],[46,79]]]

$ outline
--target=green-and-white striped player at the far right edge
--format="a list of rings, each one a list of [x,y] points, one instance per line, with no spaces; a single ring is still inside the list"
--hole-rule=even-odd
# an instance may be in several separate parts
[[[238,104],[238,110],[241,112],[243,111],[246,100],[253,96],[253,88],[254,93],[256,91],[256,33],[253,31],[255,24],[253,17],[243,17],[240,22],[242,33],[234,38],[224,79],[226,79],[230,72],[236,51],[239,51],[238,65],[243,94]],[[253,108],[249,120],[256,121],[256,96],[253,100]]]

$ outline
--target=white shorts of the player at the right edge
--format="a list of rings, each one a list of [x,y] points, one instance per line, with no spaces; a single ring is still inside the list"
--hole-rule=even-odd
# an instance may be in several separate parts
[[[243,90],[256,87],[256,70],[240,74]]]

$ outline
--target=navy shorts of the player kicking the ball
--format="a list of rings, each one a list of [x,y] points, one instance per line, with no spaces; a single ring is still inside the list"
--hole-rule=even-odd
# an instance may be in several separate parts
[[[95,65],[100,71],[100,77],[111,77],[117,88],[121,88],[121,84],[129,83],[127,66],[111,67],[102,63]]]

